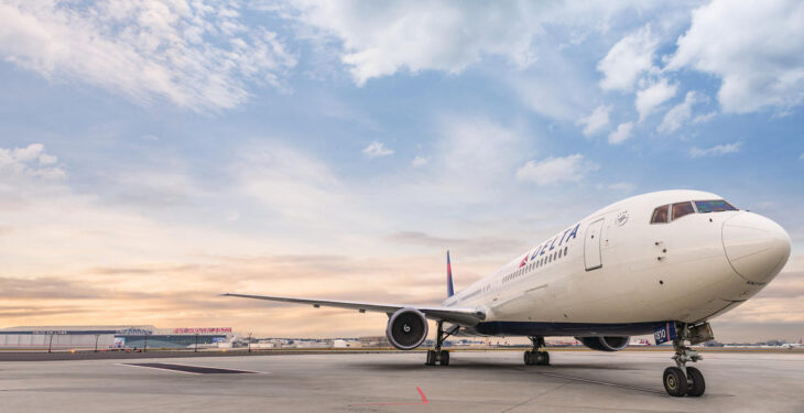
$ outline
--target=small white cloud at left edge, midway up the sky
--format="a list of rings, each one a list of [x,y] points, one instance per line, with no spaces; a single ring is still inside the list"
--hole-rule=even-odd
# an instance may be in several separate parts
[[[19,182],[28,178],[58,181],[66,177],[64,171],[48,166],[58,161],[44,152],[42,143],[31,143],[25,148],[0,148],[0,183]]]

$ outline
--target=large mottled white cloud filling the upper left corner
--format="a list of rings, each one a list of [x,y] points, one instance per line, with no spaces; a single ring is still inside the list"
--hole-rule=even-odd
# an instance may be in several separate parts
[[[77,79],[138,104],[166,98],[226,109],[248,83],[284,89],[296,58],[278,35],[247,29],[229,2],[13,1],[0,4],[0,56],[47,79]]]

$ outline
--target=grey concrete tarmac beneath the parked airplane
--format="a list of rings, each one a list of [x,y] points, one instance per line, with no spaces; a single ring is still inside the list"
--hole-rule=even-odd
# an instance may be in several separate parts
[[[0,362],[2,411],[804,411],[804,355],[706,354],[702,398],[670,398],[670,352],[519,351]],[[151,365],[151,366],[148,366]]]

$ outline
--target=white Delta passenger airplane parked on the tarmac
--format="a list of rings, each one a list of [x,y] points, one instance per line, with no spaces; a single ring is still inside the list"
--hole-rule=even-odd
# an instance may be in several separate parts
[[[453,335],[529,337],[524,363],[547,366],[547,336],[618,351],[630,336],[653,333],[675,350],[667,393],[699,396],[704,376],[687,363],[702,356],[691,346],[714,339],[708,320],[768,285],[790,252],[790,236],[767,217],[713,193],[661,191],[590,214],[457,294],[447,251],[447,298],[437,306],[221,295],[385,313],[385,335],[400,350],[421,346],[433,319],[427,366],[449,365],[442,345]]]

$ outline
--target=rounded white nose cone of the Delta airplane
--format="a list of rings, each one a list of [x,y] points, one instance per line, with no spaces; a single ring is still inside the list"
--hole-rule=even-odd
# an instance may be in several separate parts
[[[790,257],[790,236],[784,228],[748,211],[724,222],[722,243],[731,267],[750,282],[770,281]]]

